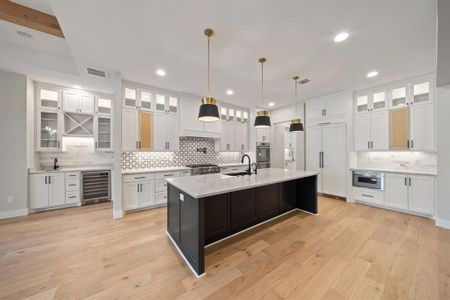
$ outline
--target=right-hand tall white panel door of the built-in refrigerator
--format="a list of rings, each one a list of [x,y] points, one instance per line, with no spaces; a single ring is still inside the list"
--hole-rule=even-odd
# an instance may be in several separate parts
[[[322,191],[346,197],[346,137],[345,124],[328,125],[322,131]]]

